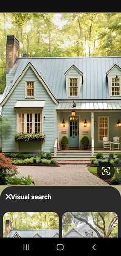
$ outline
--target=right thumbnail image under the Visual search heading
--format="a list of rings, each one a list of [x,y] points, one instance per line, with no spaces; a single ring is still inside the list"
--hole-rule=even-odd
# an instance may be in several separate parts
[[[64,238],[117,238],[118,216],[114,212],[66,212],[62,230]]]

